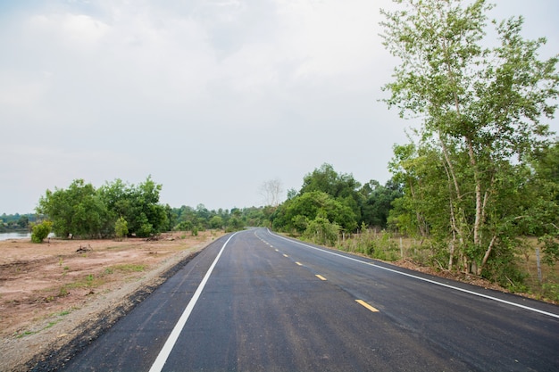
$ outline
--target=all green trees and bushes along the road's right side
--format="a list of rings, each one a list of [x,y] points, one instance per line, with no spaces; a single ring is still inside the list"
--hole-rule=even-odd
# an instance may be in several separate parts
[[[385,102],[421,125],[395,145],[393,178],[365,189],[322,166],[279,206],[273,226],[330,245],[378,227],[380,239],[356,244],[373,257],[402,257],[390,235],[404,236],[433,267],[530,291],[521,257],[540,252],[550,268],[559,259],[559,144],[546,124],[557,56],[539,59],[546,39],[524,39],[521,17],[488,20],[493,5],[483,0],[396,3],[382,12],[384,45],[400,61]],[[388,214],[378,214],[377,193]],[[540,275],[539,290],[556,299],[553,280]]]

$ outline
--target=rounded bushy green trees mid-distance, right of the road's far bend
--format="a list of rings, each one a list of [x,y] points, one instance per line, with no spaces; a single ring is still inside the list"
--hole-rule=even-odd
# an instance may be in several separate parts
[[[340,233],[363,226],[386,228],[391,204],[400,196],[402,186],[391,180],[384,186],[375,180],[361,185],[324,163],[305,176],[300,190],[288,191],[288,200],[271,215],[271,227],[333,244]]]

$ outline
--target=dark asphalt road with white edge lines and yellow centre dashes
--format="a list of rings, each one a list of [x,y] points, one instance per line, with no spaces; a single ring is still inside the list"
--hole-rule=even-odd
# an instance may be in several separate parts
[[[558,371],[559,307],[275,236],[224,236],[68,371]]]

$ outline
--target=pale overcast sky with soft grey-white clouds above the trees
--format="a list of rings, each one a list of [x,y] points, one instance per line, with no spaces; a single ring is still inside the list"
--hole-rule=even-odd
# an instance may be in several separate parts
[[[559,2],[495,3],[559,53]],[[298,190],[325,162],[384,184],[411,125],[378,101],[396,64],[378,36],[390,6],[0,0],[0,214],[77,178],[151,175],[161,203],[208,209],[261,205],[265,181]]]

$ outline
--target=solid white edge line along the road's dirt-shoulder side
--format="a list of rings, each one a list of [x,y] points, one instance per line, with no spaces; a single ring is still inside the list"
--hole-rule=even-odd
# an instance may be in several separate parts
[[[196,289],[196,292],[190,299],[190,302],[188,302],[187,308],[180,316],[179,321],[177,322],[175,327],[172,328],[171,335],[169,335],[169,338],[167,338],[167,341],[165,341],[163,348],[161,349],[161,351],[159,351],[159,355],[157,355],[157,358],[155,359],[152,368],[149,368],[149,372],[161,372],[161,370],[163,369],[163,366],[165,365],[167,358],[169,358],[169,354],[171,354],[172,348],[175,346],[175,343],[177,343],[177,340],[179,339],[179,335],[180,332],[182,331],[182,328],[184,328],[185,324],[187,324],[187,320],[188,317],[190,316],[190,313],[194,309],[194,306],[196,305],[198,298],[200,298],[200,294],[202,294],[202,291],[204,291],[205,284],[207,283],[208,279],[212,275],[213,268],[215,268],[217,261],[220,260],[221,253],[225,249],[225,246],[229,243],[229,240],[231,240],[231,238],[236,234],[237,233],[233,234],[232,236],[229,236],[227,242],[225,242],[225,244],[223,244],[223,246],[221,247],[221,251],[217,254],[215,260],[213,260],[212,266],[210,266],[210,269],[208,269],[208,271],[205,273],[204,279],[202,279],[202,282],[200,282],[200,285],[198,285],[198,288]]]

